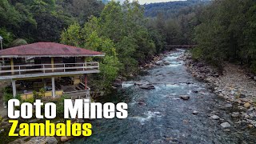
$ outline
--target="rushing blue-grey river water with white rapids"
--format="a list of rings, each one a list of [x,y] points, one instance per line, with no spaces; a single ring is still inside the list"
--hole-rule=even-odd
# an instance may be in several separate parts
[[[147,70],[101,100],[128,103],[128,118],[93,120],[92,136],[71,143],[256,143],[255,130],[230,117],[234,106],[186,71],[179,58],[183,53],[175,50],[162,59],[170,65]],[[134,85],[138,81],[150,82],[155,89],[142,90]],[[184,94],[190,96],[188,101],[180,99]],[[198,114],[192,114],[194,110]],[[213,120],[209,114],[221,119]],[[229,122],[231,127],[222,128],[222,122]]]

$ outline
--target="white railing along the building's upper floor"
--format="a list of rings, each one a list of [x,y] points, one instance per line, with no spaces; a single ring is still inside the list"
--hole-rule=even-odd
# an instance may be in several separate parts
[[[30,64],[30,65],[14,65],[0,66],[0,75],[21,75],[21,74],[38,74],[38,73],[54,73],[54,72],[70,72],[99,70],[98,62],[85,63],[54,63],[54,64]]]

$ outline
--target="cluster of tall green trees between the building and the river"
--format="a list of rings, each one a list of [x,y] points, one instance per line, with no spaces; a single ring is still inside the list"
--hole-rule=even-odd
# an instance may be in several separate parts
[[[129,77],[138,66],[161,52],[164,38],[158,30],[146,26],[142,6],[138,2],[109,2],[99,17],[90,17],[84,26],[74,23],[62,33],[62,43],[106,53],[101,62],[102,73],[94,79],[94,87],[108,88],[118,74]],[[98,81],[97,81],[98,80]],[[103,82],[102,82],[103,80]]]

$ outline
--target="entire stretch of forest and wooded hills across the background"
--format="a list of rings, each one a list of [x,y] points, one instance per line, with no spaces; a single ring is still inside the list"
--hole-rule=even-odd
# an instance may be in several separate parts
[[[61,42],[106,53],[94,88],[108,90],[165,45],[197,45],[195,59],[221,67],[241,62],[256,73],[256,2],[188,0],[144,6],[137,1],[2,0],[3,47]]]

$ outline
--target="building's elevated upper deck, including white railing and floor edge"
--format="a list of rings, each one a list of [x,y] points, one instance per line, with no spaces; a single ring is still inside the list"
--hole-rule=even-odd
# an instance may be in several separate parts
[[[0,66],[0,80],[99,73],[98,62]]]

